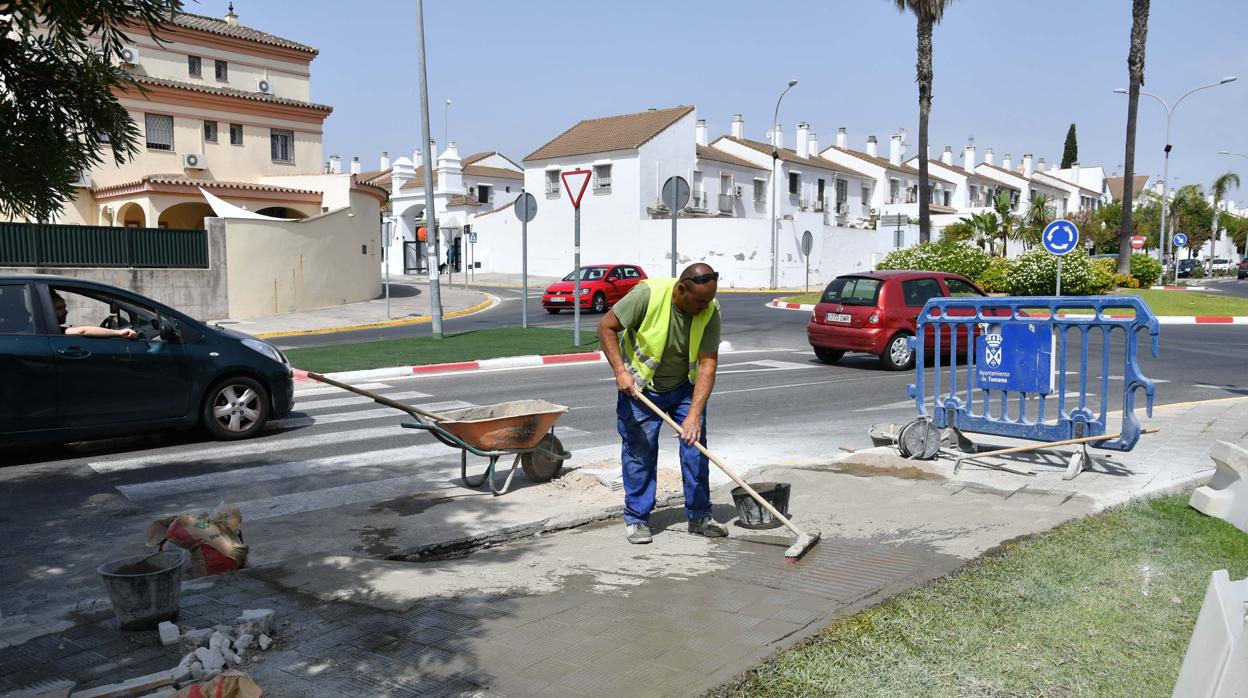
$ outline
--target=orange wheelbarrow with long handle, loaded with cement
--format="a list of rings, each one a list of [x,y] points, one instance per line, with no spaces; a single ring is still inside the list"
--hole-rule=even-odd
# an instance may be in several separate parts
[[[507,493],[512,487],[517,467],[533,482],[549,482],[563,471],[563,462],[572,457],[554,435],[554,423],[559,421],[560,415],[568,412],[563,405],[544,400],[515,400],[437,413],[334,381],[321,373],[308,371],[308,377],[407,412],[416,421],[403,422],[404,428],[427,431],[442,443],[458,448],[459,476],[464,484],[480,487],[488,482],[489,491],[495,496]],[[475,478],[468,476],[468,453],[489,461],[485,471]],[[499,486],[495,476],[498,460],[503,456],[514,456],[514,460],[507,471],[507,479]]]

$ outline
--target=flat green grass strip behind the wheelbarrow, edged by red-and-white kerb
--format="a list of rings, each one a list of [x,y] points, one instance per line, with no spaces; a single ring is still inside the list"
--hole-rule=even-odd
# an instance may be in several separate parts
[[[329,373],[388,366],[477,361],[504,356],[547,356],[598,351],[598,333],[593,327],[582,328],[580,346],[573,345],[572,338],[570,330],[504,327],[447,335],[446,338],[423,336],[379,340],[329,347],[293,348],[285,353],[291,363],[298,368]]]

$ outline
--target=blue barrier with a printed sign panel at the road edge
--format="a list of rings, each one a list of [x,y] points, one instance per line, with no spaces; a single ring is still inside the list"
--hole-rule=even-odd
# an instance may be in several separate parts
[[[1048,316],[1026,313],[1023,308],[1047,308]],[[1107,315],[1117,308],[1131,308],[1134,317]],[[1061,315],[1072,310],[1091,310],[1093,315]],[[1156,387],[1139,370],[1137,343],[1138,332],[1148,330],[1152,353],[1157,356],[1161,327],[1137,296],[931,298],[919,316],[916,330],[917,336],[910,340],[916,382],[909,392],[919,407],[919,416],[930,417],[936,427],[1031,441],[1107,435],[1109,355],[1118,333],[1123,336],[1122,430],[1116,438],[1091,446],[1112,451],[1131,451],[1136,446],[1141,433],[1134,412],[1136,391],[1143,388],[1148,416],[1153,413]],[[1076,386],[1067,385],[1067,348],[1072,331],[1080,345],[1077,393]],[[1090,335],[1101,341],[1097,410],[1088,406]],[[958,375],[960,341],[961,350],[966,350],[962,376]],[[968,346],[972,341],[973,346]],[[941,365],[945,350],[947,366]],[[936,368],[930,393],[924,375],[929,353],[935,353]],[[943,380],[942,373],[947,373]],[[1068,395],[1071,400],[1078,396],[1077,405],[1067,405]],[[1028,400],[1035,400],[1031,415]],[[1046,412],[1047,403],[1055,400],[1056,415]],[[1011,415],[1015,401],[1017,413]]]

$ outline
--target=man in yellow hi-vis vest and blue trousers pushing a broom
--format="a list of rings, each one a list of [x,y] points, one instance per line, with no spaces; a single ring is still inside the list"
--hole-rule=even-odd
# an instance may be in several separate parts
[[[706,456],[706,401],[715,387],[720,318],[719,273],[690,265],[680,278],[648,278],[598,323],[615,371],[615,426],[623,440],[624,524],[629,543],[651,541],[649,518],[658,486],[663,420],[633,397],[634,386],[680,425],[680,472],[689,532],[713,538],[728,528],[711,518]]]

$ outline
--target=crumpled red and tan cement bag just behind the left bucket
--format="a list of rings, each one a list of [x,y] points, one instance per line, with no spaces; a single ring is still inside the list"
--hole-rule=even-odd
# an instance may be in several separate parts
[[[222,506],[211,516],[177,514],[147,524],[147,544],[166,542],[190,552],[193,577],[207,577],[247,564],[247,544],[242,539],[242,513],[236,506]]]

